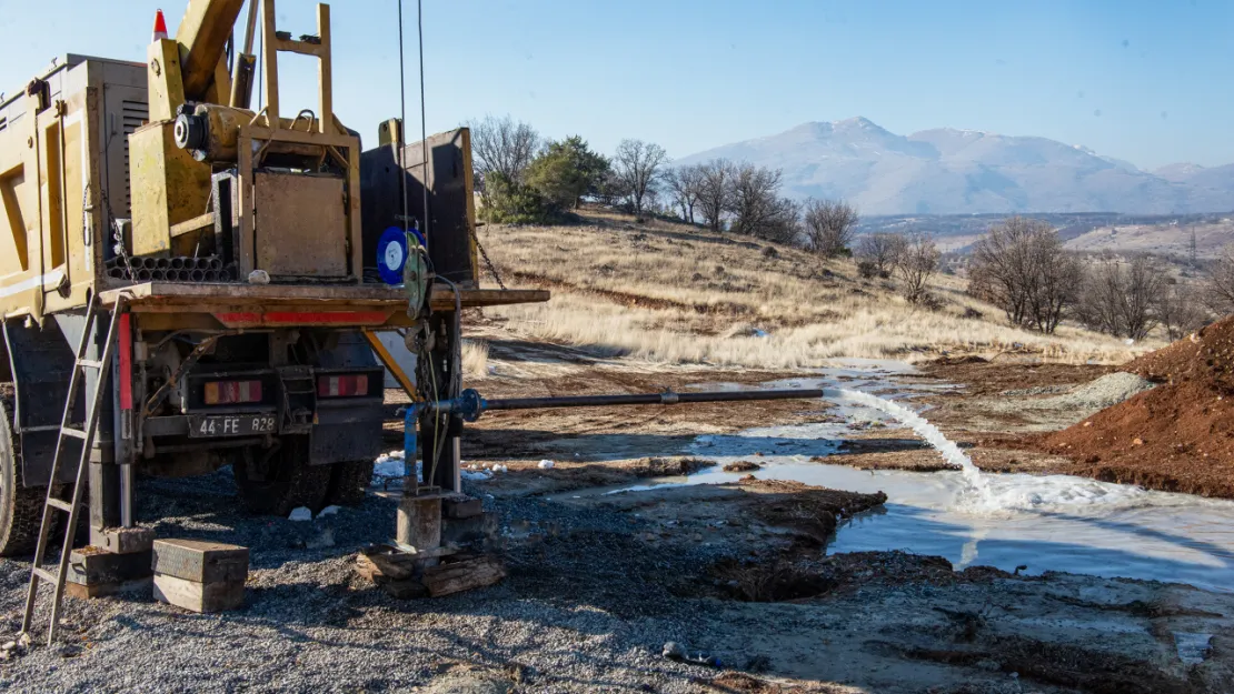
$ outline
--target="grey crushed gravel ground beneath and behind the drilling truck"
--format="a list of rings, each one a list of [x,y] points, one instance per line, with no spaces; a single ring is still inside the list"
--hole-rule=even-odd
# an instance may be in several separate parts
[[[507,581],[443,599],[395,600],[352,573],[358,549],[392,534],[394,502],[370,496],[360,508],[312,523],[253,518],[234,510],[230,477],[225,468],[143,481],[138,518],[164,514],[154,524],[160,537],[252,547],[246,609],[196,615],[148,597],[67,599],[60,643],[0,662],[0,689],[402,690],[448,676],[491,687],[521,680],[536,690],[691,692],[691,677],[714,674],[659,655],[665,641],[689,642],[707,602],[682,603],[661,581],[644,581],[692,576],[714,558],[711,547],[653,556],[615,546],[633,542],[627,514],[501,502],[503,516],[523,519],[506,529]],[[553,534],[571,541],[543,541]],[[0,561],[6,635],[20,627],[28,571],[28,563]],[[39,618],[44,624],[42,604]]]

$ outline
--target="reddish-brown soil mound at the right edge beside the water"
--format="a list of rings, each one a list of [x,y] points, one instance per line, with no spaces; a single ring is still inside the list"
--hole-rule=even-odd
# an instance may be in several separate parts
[[[1234,317],[1123,367],[1162,385],[1040,440],[1072,472],[1234,498]]]

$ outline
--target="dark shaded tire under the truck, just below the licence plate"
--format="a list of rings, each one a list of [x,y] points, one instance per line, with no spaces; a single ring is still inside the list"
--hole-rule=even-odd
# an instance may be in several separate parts
[[[326,505],[331,466],[308,465],[308,436],[283,436],[279,443],[268,451],[241,449],[232,460],[244,508],[284,516],[300,507],[317,513]]]

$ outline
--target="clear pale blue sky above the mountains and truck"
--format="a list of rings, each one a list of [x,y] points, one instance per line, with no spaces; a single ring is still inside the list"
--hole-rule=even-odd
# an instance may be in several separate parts
[[[185,1],[163,0],[174,33]],[[53,55],[142,60],[158,2],[0,0],[0,90]],[[278,0],[279,28],[315,2]],[[399,112],[396,0],[336,1],[339,117],[374,141]],[[415,4],[407,113],[418,129]],[[49,18],[51,17],[51,18]],[[602,152],[623,137],[673,157],[865,116],[1083,144],[1153,169],[1234,163],[1234,2],[426,0],[427,127],[511,113]],[[313,68],[284,58],[283,102]]]

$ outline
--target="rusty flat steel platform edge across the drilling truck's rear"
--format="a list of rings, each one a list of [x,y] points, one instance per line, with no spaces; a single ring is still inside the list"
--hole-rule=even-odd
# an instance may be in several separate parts
[[[102,292],[104,306],[127,296],[132,313],[173,327],[217,322],[226,328],[337,325],[400,328],[410,325],[407,297],[397,287],[378,285],[238,285],[144,282]],[[537,303],[547,290],[459,290],[463,308]],[[436,285],[434,311],[453,311],[454,292]],[[162,314],[162,316],[158,316]]]

